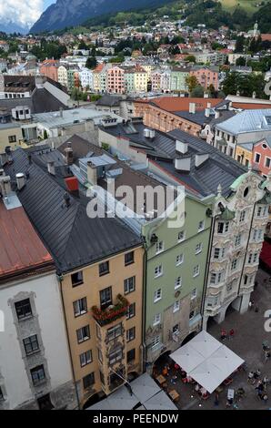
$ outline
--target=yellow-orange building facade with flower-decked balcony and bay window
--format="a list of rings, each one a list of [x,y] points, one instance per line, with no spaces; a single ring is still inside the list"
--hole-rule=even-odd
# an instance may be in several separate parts
[[[113,392],[123,384],[122,377],[142,372],[142,247],[65,275],[61,289],[75,383],[84,406],[95,393]],[[79,314],[83,300],[87,311]]]

